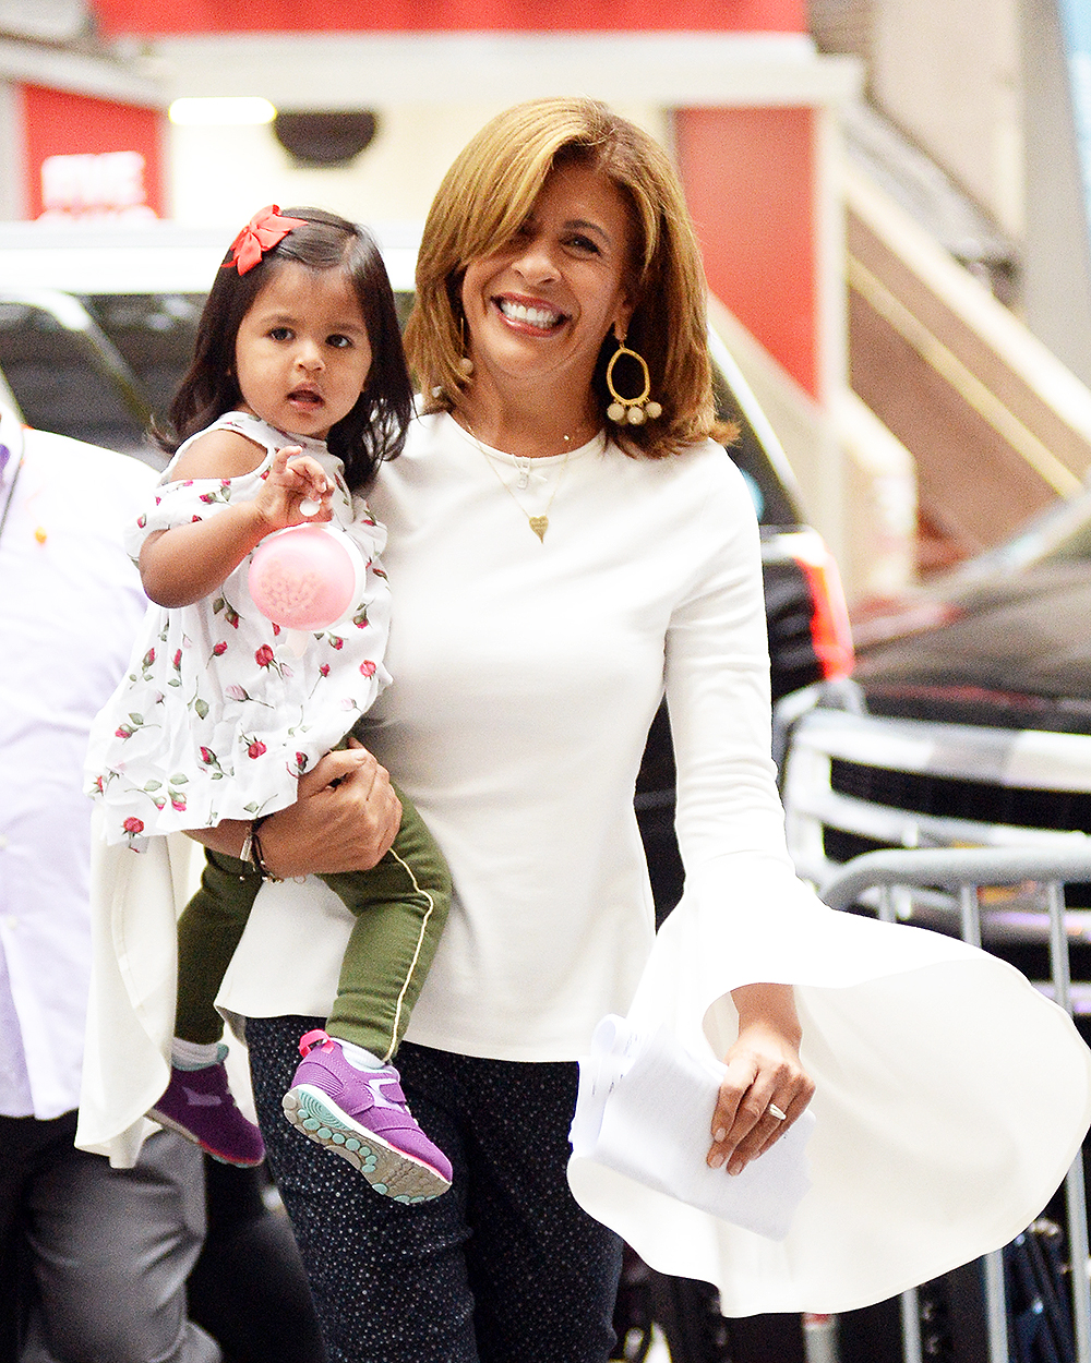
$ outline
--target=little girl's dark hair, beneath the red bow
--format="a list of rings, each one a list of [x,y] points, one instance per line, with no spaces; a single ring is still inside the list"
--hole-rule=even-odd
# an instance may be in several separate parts
[[[243,394],[235,378],[235,341],[254,300],[285,262],[308,270],[342,270],[356,290],[371,345],[371,369],[356,406],[330,428],[327,444],[345,465],[350,488],[365,487],[383,459],[405,444],[413,414],[413,387],[398,330],[394,292],[375,239],[364,228],[320,209],[285,209],[303,218],[284,240],[265,252],[259,264],[239,274],[230,251],[217,271],[196,331],[194,361],[170,403],[170,433],[155,432],[173,454],[190,436],[239,406]]]

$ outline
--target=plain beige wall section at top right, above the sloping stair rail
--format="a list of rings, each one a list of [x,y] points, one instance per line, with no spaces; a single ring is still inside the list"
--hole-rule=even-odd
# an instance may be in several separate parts
[[[871,0],[876,102],[1023,236],[1017,0]]]

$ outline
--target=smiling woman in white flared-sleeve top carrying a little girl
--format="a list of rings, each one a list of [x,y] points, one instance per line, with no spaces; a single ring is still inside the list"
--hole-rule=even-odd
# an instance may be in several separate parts
[[[784,1246],[573,1175],[603,1221],[657,1266],[715,1278],[732,1314],[861,1304],[1001,1243],[1091,1115],[1071,1024],[1021,977],[930,934],[829,915],[794,876],[768,755],[758,536],[713,439],[704,324],[667,158],[601,105],[521,105],[451,166],[406,335],[425,410],[370,499],[390,532],[395,682],[371,752],[325,759],[262,829],[280,876],[371,864],[398,818],[378,758],[443,849],[455,900],[400,1066],[451,1157],[450,1193],[391,1206],[280,1118],[348,931],[320,885],[262,891],[220,998],[248,1020],[263,1134],[338,1363],[608,1358],[619,1240],[569,1193],[567,1127],[576,1059],[630,1005],[727,1060],[706,1156],[724,1176],[810,1101],[796,1000],[806,1010],[824,1107],[816,1187]],[[687,893],[653,949],[631,797],[664,688]],[[237,855],[244,833],[206,840]],[[900,1179],[899,1123],[910,1111],[914,1157],[952,1130],[979,1153],[1009,1063],[982,1054],[972,1020],[952,1030],[953,999],[1001,999],[982,1026],[1023,1058],[1049,1044],[1060,1084],[1021,1075],[1024,1094],[1039,1084],[1032,1114],[1051,1108],[1047,1123],[1020,1112],[1047,1168],[1009,1159],[1016,1191],[997,1210],[986,1159],[989,1214],[968,1199],[970,1228],[937,1247],[915,1232],[948,1224],[966,1160],[940,1159],[937,1175],[926,1149]],[[897,1065],[876,1043],[888,1024]],[[916,1217],[907,1249],[889,1208]],[[877,1234],[896,1242],[889,1265]]]

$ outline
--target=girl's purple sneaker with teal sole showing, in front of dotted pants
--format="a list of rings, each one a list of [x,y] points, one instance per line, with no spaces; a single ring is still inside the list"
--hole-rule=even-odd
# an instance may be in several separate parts
[[[451,1186],[451,1167],[413,1120],[393,1065],[357,1070],[320,1029],[299,1043],[303,1063],[284,1115],[304,1135],[359,1169],[395,1202],[427,1202]]]

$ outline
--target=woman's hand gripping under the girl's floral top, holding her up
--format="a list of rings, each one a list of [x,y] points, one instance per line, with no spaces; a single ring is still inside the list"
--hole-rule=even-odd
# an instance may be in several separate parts
[[[390,773],[356,739],[327,752],[299,778],[295,804],[262,823],[262,856],[273,875],[370,871],[401,825]]]

